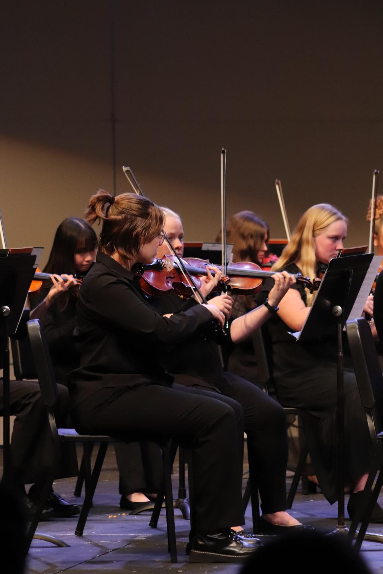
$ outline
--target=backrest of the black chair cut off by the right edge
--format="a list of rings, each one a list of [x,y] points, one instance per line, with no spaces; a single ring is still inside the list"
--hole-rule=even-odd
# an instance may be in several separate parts
[[[367,421],[369,419],[373,421],[375,431],[378,433],[381,424],[377,404],[382,399],[383,376],[370,325],[362,317],[350,319],[346,323],[346,332]],[[370,428],[370,432],[371,430]]]

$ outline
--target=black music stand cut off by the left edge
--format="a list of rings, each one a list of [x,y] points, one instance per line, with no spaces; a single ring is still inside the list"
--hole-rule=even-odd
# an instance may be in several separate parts
[[[13,254],[4,250],[0,257],[0,323],[3,344],[0,358],[3,358],[3,477],[9,482],[9,335],[16,332],[24,309],[29,286],[35,273],[36,254]],[[32,251],[32,250],[31,250]],[[9,254],[8,254],[9,253]]]

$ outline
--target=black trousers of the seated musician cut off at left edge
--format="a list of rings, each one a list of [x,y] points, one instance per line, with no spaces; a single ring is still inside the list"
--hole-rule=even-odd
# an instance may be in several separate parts
[[[57,385],[59,402],[57,425],[68,426],[69,393]],[[0,379],[0,414],[3,409],[3,381]],[[10,444],[10,480],[13,484],[31,484],[45,480],[53,457],[52,433],[42,401],[40,386],[33,381],[10,382],[10,413],[16,415]],[[75,448],[65,445],[56,478],[76,476]]]

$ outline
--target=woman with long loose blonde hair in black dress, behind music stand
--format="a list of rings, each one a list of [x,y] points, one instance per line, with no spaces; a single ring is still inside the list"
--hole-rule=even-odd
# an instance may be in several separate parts
[[[314,278],[318,276],[319,265],[327,266],[343,248],[346,235],[347,219],[341,212],[332,205],[314,205],[299,220],[291,241],[272,270],[301,271]],[[266,294],[266,291],[260,293],[257,300],[261,302]],[[284,406],[298,407],[310,414],[305,421],[305,435],[311,460],[323,494],[333,503],[336,501],[336,344],[334,340],[324,338],[296,343],[289,334],[300,331],[313,300],[314,295],[303,286],[293,285],[267,328],[272,339],[273,376],[278,399]],[[371,445],[355,374],[347,364],[345,426],[346,484],[351,489],[347,509],[352,518],[370,468]],[[373,521],[383,521],[383,511],[378,506]]]

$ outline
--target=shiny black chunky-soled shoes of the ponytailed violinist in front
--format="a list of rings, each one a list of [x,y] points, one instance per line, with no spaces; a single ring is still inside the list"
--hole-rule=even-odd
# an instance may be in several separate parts
[[[237,540],[235,530],[217,532],[216,534],[196,533],[190,546],[189,562],[213,563],[229,562],[242,564],[249,560],[254,550],[262,546],[258,538],[252,542]],[[237,532],[235,532],[237,535]]]

